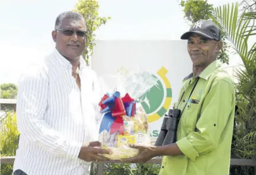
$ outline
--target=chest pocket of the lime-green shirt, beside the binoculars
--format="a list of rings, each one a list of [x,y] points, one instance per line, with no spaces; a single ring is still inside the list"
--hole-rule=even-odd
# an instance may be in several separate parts
[[[199,115],[199,104],[187,103],[185,106],[185,128],[189,131],[194,131],[196,129],[196,122]]]

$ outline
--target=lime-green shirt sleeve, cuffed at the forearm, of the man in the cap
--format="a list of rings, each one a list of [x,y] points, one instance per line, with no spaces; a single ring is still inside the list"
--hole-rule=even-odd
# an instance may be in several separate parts
[[[203,102],[196,131],[177,141],[180,150],[191,160],[217,148],[223,129],[235,107],[235,90],[232,83],[218,80],[213,83]]]

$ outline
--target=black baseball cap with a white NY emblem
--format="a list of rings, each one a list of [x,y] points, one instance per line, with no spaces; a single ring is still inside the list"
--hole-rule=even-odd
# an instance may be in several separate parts
[[[209,20],[199,20],[195,22],[188,32],[181,35],[181,40],[188,40],[188,37],[194,33],[204,38],[220,41],[220,28]]]

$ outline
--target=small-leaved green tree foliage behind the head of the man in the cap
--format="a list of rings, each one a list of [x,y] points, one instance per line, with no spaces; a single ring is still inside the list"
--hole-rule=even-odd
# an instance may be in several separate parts
[[[181,1],[181,7],[183,7],[184,18],[191,22],[191,25],[194,22],[199,20],[211,20],[210,16],[213,12],[213,5],[208,4],[207,1]],[[217,59],[222,61],[222,63],[229,63],[229,57],[226,51],[229,46],[225,41],[225,35],[222,33],[223,47],[222,50],[217,54]]]

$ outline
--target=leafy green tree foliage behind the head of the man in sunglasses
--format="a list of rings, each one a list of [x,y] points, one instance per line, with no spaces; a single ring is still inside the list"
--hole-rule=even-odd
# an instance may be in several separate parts
[[[76,4],[76,9],[73,11],[83,15],[87,22],[87,41],[85,43],[85,51],[82,56],[88,63],[89,56],[93,54],[95,46],[95,31],[106,24],[110,17],[99,17],[98,9],[100,8],[97,0],[79,0]]]

